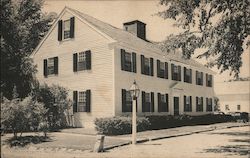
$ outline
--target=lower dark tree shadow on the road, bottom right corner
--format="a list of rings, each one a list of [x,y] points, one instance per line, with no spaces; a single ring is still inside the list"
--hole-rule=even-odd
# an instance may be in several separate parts
[[[250,145],[227,145],[215,149],[205,149],[206,152],[213,153],[233,153],[237,155],[248,155]]]

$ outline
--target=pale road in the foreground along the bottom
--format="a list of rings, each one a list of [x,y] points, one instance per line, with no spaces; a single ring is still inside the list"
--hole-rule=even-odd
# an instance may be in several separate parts
[[[115,148],[105,153],[81,150],[3,149],[3,158],[84,157],[84,158],[181,158],[249,157],[250,127],[238,127]]]

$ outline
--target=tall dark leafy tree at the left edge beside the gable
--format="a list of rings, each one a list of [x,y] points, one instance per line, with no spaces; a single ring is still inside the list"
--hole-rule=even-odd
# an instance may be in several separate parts
[[[1,1],[1,95],[11,99],[12,90],[20,98],[28,96],[36,67],[30,54],[48,31],[55,14],[43,14],[43,1]]]

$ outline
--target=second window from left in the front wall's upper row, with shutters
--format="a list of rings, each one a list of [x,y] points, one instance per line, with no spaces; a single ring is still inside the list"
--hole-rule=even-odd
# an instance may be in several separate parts
[[[154,76],[153,58],[145,58],[144,55],[141,55],[141,73],[144,75]]]

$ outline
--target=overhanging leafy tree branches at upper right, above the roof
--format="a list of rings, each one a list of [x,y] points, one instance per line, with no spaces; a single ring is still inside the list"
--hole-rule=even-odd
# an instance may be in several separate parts
[[[158,15],[175,20],[184,29],[162,43],[166,52],[181,49],[190,58],[198,48],[198,58],[209,58],[207,66],[230,71],[237,78],[242,66],[244,42],[250,44],[249,0],[160,0],[166,9]]]

